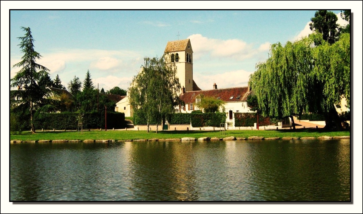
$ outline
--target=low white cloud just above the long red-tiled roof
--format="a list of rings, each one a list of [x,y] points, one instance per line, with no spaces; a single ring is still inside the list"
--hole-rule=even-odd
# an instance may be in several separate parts
[[[193,79],[203,90],[212,89],[213,83],[217,84],[219,89],[229,87],[247,86],[249,76],[253,72],[245,70],[229,71],[214,75],[193,74]]]

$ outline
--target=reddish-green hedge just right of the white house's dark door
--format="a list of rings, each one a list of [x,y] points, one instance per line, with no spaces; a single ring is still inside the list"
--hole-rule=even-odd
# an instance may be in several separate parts
[[[258,124],[260,126],[264,125],[275,125],[275,121],[270,120],[269,117],[263,117],[258,115]],[[256,113],[234,113],[234,126],[236,127],[250,127],[254,126],[254,123],[257,123],[257,114]]]

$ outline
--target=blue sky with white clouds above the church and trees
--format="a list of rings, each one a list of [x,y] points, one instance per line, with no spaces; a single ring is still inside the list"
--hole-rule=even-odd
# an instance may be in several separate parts
[[[340,10],[333,11],[339,13]],[[168,41],[190,38],[194,80],[201,89],[245,86],[269,46],[306,36],[315,10],[304,11],[11,11],[10,75],[22,56],[20,26],[30,27],[38,61],[63,85],[89,69],[94,85],[127,89],[143,58],[161,56]],[[340,17],[339,17],[340,18]],[[344,24],[344,21],[341,21]]]

